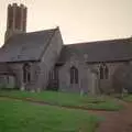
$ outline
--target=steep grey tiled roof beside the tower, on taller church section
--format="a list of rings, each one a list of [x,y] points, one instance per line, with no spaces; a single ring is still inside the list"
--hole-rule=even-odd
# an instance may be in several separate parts
[[[0,62],[40,61],[56,29],[12,36],[0,48]]]

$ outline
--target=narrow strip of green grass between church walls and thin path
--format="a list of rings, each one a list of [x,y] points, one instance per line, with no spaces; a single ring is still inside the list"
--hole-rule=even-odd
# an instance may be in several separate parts
[[[38,101],[51,102],[59,106],[85,107],[89,109],[119,110],[122,108],[113,98],[110,97],[88,97],[78,94],[66,92],[28,92],[28,91],[8,91],[1,90],[0,96],[10,96],[16,98],[32,98]]]

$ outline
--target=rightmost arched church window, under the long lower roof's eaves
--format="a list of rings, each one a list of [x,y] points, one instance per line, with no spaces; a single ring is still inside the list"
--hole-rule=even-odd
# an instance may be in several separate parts
[[[105,65],[105,64],[100,65],[99,72],[100,72],[100,79],[109,78],[109,69],[108,69],[107,65]]]

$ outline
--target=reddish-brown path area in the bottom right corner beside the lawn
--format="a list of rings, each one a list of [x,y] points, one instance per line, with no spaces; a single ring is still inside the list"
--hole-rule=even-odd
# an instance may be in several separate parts
[[[124,103],[124,109],[118,112],[96,113],[106,117],[96,132],[132,132],[132,103]]]

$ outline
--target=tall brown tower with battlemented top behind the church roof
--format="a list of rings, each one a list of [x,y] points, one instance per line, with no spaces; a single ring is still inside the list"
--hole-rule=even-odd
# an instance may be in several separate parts
[[[24,4],[12,3],[8,6],[4,42],[14,34],[26,32],[26,14],[28,9]]]

